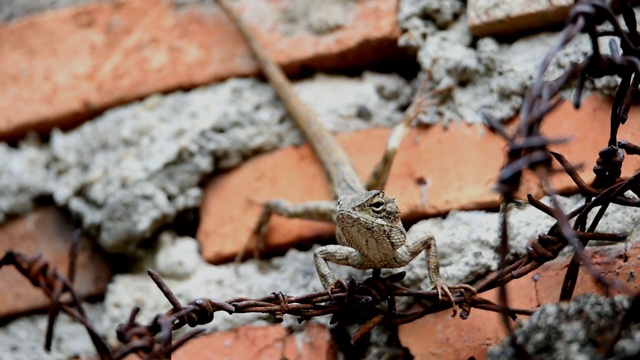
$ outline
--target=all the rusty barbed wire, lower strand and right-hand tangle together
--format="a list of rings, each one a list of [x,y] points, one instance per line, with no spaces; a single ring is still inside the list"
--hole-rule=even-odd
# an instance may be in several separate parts
[[[626,26],[624,29],[616,18],[616,12],[622,15]],[[611,28],[600,30],[602,24],[610,24]],[[501,208],[501,234],[500,234],[500,270],[479,280],[475,284],[478,295],[467,292],[456,293],[453,303],[460,309],[460,317],[465,319],[470,315],[472,308],[485,311],[494,311],[503,314],[504,324],[511,331],[510,319],[517,315],[530,315],[530,309],[510,308],[507,301],[505,285],[526,274],[534,271],[545,262],[555,259],[560,251],[570,245],[575,252],[573,259],[562,285],[560,299],[570,299],[578,276],[578,266],[584,264],[588,273],[598,282],[614,287],[627,294],[633,294],[624,284],[610,280],[599,274],[592,266],[584,247],[591,240],[624,241],[625,234],[597,232],[597,226],[609,208],[610,204],[621,206],[640,206],[640,200],[625,195],[631,191],[638,195],[640,174],[636,174],[627,180],[621,180],[621,166],[627,155],[640,154],[640,147],[628,141],[618,140],[618,129],[627,121],[629,109],[633,104],[640,77],[640,35],[637,30],[635,13],[625,1],[577,1],[569,13],[567,24],[560,35],[557,45],[547,54],[540,64],[534,83],[524,96],[520,111],[520,126],[510,135],[508,131],[489,115],[484,114],[489,126],[504,138],[508,144],[506,151],[506,164],[501,169],[496,191],[501,194],[503,207]],[[544,74],[552,64],[557,54],[578,35],[586,33],[592,46],[592,53],[581,63],[574,64],[559,78],[553,81],[544,81]],[[610,54],[603,54],[598,39],[611,37],[609,41]],[[619,43],[613,41],[618,39]],[[558,93],[575,81],[575,107],[580,106],[585,82],[588,77],[600,78],[607,75],[618,75],[621,83],[617,89],[611,112],[610,134],[606,140],[607,146],[600,151],[599,158],[593,169],[595,179],[587,184],[578,175],[577,170],[570,161],[561,154],[549,151],[548,146],[567,142],[567,138],[551,139],[541,132],[541,123],[544,117],[555,109],[561,100]],[[557,161],[562,171],[568,174],[575,182],[579,191],[585,196],[584,204],[571,211],[565,212],[560,206],[556,191],[551,187],[549,176],[554,172],[553,161]],[[545,191],[550,196],[551,205],[528,196],[528,202],[541,212],[553,217],[556,223],[545,234],[529,242],[526,247],[527,254],[507,263],[507,249],[509,234],[507,218],[509,204],[516,201],[516,193],[520,187],[522,173],[530,169],[537,175]],[[588,215],[596,208],[595,216],[589,222]],[[570,220],[573,220],[571,225]],[[69,272],[66,276],[57,272],[48,262],[40,256],[28,256],[21,252],[8,251],[0,260],[0,268],[10,265],[17,268],[31,283],[43,290],[50,299],[49,317],[45,335],[45,349],[49,350],[53,337],[53,326],[60,312],[64,312],[72,319],[82,324],[96,348],[101,359],[123,359],[130,354],[136,354],[143,359],[169,359],[171,353],[184,345],[192,338],[201,334],[203,329],[195,329],[173,339],[173,331],[188,325],[197,327],[214,320],[216,312],[224,311],[229,314],[263,313],[269,314],[274,321],[283,321],[284,315],[292,315],[298,321],[306,321],[313,317],[332,315],[331,322],[343,324],[358,324],[360,327],[352,334],[355,342],[364,334],[371,331],[379,324],[404,324],[414,321],[427,314],[439,312],[452,307],[451,302],[440,301],[435,290],[412,290],[397,284],[404,278],[404,272],[382,277],[380,271],[374,271],[373,276],[359,283],[351,279],[344,288],[332,290],[331,294],[321,291],[301,296],[291,296],[275,292],[259,299],[233,298],[226,301],[217,301],[209,298],[193,300],[186,305],[173,294],[164,280],[153,270],[149,270],[149,276],[165,296],[171,309],[163,314],[156,315],[150,322],[141,324],[136,321],[140,312],[135,307],[129,318],[116,329],[116,335],[121,345],[111,349],[106,341],[90,325],[86,313],[82,308],[78,297],[73,290],[73,278],[75,274],[75,258],[79,235],[74,234],[71,252],[69,256]],[[500,288],[500,302],[493,303],[479,296],[480,293]],[[69,294],[68,302],[61,301],[64,294]],[[153,295],[149,295],[153,296]],[[396,308],[396,298],[409,297],[422,304],[422,309],[399,312]],[[607,345],[607,352],[612,353],[620,333],[630,323],[637,322],[637,313],[640,310],[640,300],[637,294],[632,300],[631,309],[620,324],[614,336]],[[454,313],[455,315],[455,313]],[[512,342],[518,353],[524,349]]]

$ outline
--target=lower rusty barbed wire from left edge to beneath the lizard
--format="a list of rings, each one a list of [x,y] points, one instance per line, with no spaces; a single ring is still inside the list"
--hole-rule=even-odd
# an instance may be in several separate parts
[[[72,245],[72,248],[77,247],[77,242],[75,243],[76,245]],[[71,253],[74,254],[75,251],[72,250]],[[70,262],[73,261],[75,260],[70,259]],[[8,251],[0,260],[0,268],[4,265],[16,267],[51,300],[45,336],[47,351],[51,347],[55,319],[59,311],[63,311],[86,328],[102,360],[119,360],[131,354],[136,354],[142,359],[169,359],[172,352],[204,332],[204,329],[190,331],[175,340],[172,339],[173,331],[185,325],[196,327],[208,324],[213,321],[215,313],[219,311],[229,314],[269,314],[276,322],[282,322],[285,314],[298,317],[299,322],[317,316],[332,315],[331,323],[361,325],[352,334],[352,342],[355,342],[379,324],[404,324],[452,307],[449,301],[439,301],[436,290],[411,290],[396,284],[404,278],[404,272],[381,277],[379,271],[374,271],[373,276],[362,283],[351,279],[345,283],[344,288],[335,289],[331,294],[327,291],[302,296],[272,293],[259,299],[238,297],[226,301],[200,298],[183,306],[161,276],[149,270],[149,276],[172,308],[164,314],[156,315],[149,323],[141,324],[136,321],[140,308],[135,307],[128,320],[117,327],[116,335],[121,346],[112,350],[90,325],[82,304],[72,288],[69,278],[74,276],[73,267],[70,267],[70,274],[64,276],[41,256],[28,256],[15,251]],[[71,295],[70,304],[60,301],[60,297],[65,293]],[[399,313],[396,311],[396,297],[412,297],[425,304],[425,307],[419,311]],[[453,301],[460,305],[462,318],[469,316],[471,308],[495,312],[505,311],[499,305],[479,296],[470,295],[468,292],[454,296]],[[531,310],[523,309],[506,310],[513,318],[516,315],[532,313]]]

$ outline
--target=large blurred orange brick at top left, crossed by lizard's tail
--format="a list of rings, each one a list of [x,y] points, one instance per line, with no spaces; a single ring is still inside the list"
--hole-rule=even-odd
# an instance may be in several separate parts
[[[358,2],[346,26],[322,35],[284,35],[279,16],[292,0],[260,2],[236,6],[290,73],[366,66],[399,54],[397,0]],[[69,128],[152,93],[256,74],[236,29],[212,9],[121,0],[0,24],[0,140]]]

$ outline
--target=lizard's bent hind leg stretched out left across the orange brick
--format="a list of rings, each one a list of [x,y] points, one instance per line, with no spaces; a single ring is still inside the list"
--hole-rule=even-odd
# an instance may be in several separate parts
[[[281,215],[287,218],[299,218],[306,220],[317,220],[325,222],[335,222],[336,203],[335,201],[310,201],[304,204],[294,205],[285,200],[269,200],[262,207],[262,213],[256,226],[251,232],[250,238],[245,243],[242,250],[236,255],[236,263],[244,257],[247,248],[253,244],[253,254],[256,259],[260,256],[260,251],[264,247],[264,241],[269,228],[269,219],[272,214]]]

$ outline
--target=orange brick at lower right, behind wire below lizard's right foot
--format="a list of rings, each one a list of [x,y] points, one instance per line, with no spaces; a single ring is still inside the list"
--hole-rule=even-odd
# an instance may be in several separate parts
[[[639,243],[626,251],[624,246],[611,246],[592,249],[588,253],[598,272],[609,279],[615,277],[632,292],[638,291],[640,280],[633,274],[640,270]],[[511,281],[507,285],[509,306],[534,309],[542,304],[557,302],[568,263],[569,258],[556,259],[523,278]],[[614,296],[619,292],[607,292],[581,267],[574,296],[586,293]],[[498,290],[490,290],[480,296],[497,302]],[[500,342],[506,336],[506,331],[498,314],[472,309],[467,320],[452,318],[449,311],[425,316],[401,325],[398,336],[402,345],[416,359],[484,359],[489,347]]]

